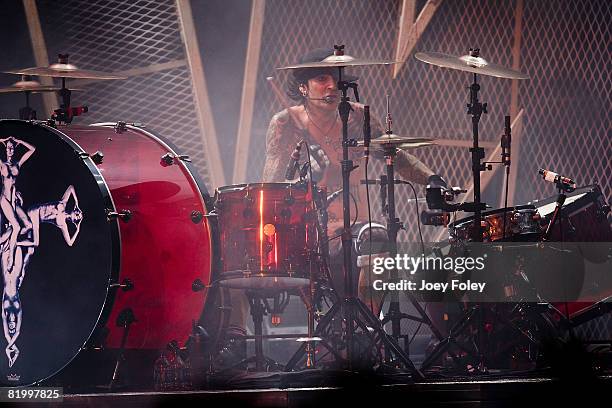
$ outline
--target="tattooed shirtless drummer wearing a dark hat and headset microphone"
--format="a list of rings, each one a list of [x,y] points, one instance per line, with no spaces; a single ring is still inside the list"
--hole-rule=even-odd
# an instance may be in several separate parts
[[[333,54],[333,50],[316,49],[305,54],[300,63],[318,62]],[[347,76],[346,81],[355,81],[356,77]],[[294,106],[278,112],[272,117],[266,136],[266,158],[263,170],[264,182],[284,182],[287,166],[292,151],[300,140],[305,140],[312,154],[311,168],[313,179],[321,187],[326,187],[328,194],[339,191],[342,188],[342,172],[340,161],[342,160],[342,122],[338,115],[338,104],[340,94],[337,87],[338,74],[336,68],[303,68],[293,70],[287,81],[287,94],[296,101]],[[352,103],[352,112],[348,122],[348,137],[361,139],[363,137],[363,105]],[[383,127],[376,118],[371,120],[372,138],[384,133]],[[302,149],[304,152],[305,149]],[[351,149],[352,159],[357,161],[362,153],[358,149]],[[305,158],[306,154],[302,154]],[[376,156],[382,159],[382,156]],[[358,162],[356,163],[358,164]],[[444,184],[440,176],[436,175],[425,164],[413,155],[399,151],[395,167],[398,177],[426,185],[432,180]],[[353,245],[352,260],[353,270],[357,270],[357,258],[365,255],[369,249],[369,234],[372,234],[372,252],[384,253],[387,243],[386,227],[380,221],[372,222],[371,229],[368,228],[368,212],[365,187],[360,185],[362,179],[360,172],[351,175],[351,216],[357,213],[357,222],[352,227]],[[337,237],[342,232],[342,200],[334,200],[329,208],[328,235],[330,238]],[[372,198],[372,197],[370,197]],[[343,256],[342,242],[339,238],[330,242],[330,269],[332,282],[336,291],[343,296]],[[361,257],[367,259],[367,257]],[[367,266],[367,265],[366,265]],[[367,274],[360,273],[359,294],[365,301],[367,296]],[[353,285],[357,285],[354,279]],[[235,300],[232,296],[232,302]],[[369,304],[369,302],[366,302]],[[248,306],[234,305],[232,322],[234,325],[246,321]],[[380,305],[377,305],[377,308]],[[244,326],[243,326],[244,327]]]

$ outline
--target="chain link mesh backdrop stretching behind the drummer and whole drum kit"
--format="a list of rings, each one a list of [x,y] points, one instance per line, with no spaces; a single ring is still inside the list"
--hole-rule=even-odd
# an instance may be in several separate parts
[[[67,52],[76,65],[105,71],[185,59],[174,1],[39,0],[37,4],[51,58]],[[425,0],[417,1],[417,15],[424,4]],[[400,6],[399,0],[267,0],[249,179],[244,181],[260,179],[267,125],[283,108],[265,78],[274,76],[284,88],[287,74],[275,67],[295,62],[309,49],[334,44],[345,44],[353,56],[393,59]],[[413,53],[460,55],[476,46],[487,60],[512,66],[515,7],[516,0],[443,1]],[[519,87],[518,107],[525,109],[525,115],[520,151],[513,151],[515,160],[520,157],[520,166],[511,205],[554,194],[551,185],[537,176],[540,166],[573,176],[579,184],[597,180],[609,198],[611,20],[612,10],[605,0],[525,0],[520,69],[531,79]],[[385,114],[385,96],[391,96],[395,133],[470,140],[469,74],[426,65],[412,55],[396,79],[388,67],[351,73],[360,76],[362,102],[379,118]],[[481,140],[497,141],[503,117],[510,113],[511,81],[481,77],[481,85],[481,100],[489,105],[489,113],[481,120]],[[208,178],[186,65],[124,81],[92,83],[73,98],[75,104],[92,107],[80,123],[144,122],[192,157],[209,189],[217,187]],[[467,148],[427,147],[415,154],[453,185],[470,184]],[[370,167],[372,177],[381,171],[380,165]],[[500,173],[483,194],[494,207],[501,190]],[[406,224],[400,239],[414,241],[418,239],[414,204],[407,202],[411,192],[397,191],[398,216]],[[376,217],[379,205],[373,193]],[[425,240],[438,234],[434,227],[424,227],[423,232]],[[590,337],[601,337],[611,323],[608,315],[584,330]]]

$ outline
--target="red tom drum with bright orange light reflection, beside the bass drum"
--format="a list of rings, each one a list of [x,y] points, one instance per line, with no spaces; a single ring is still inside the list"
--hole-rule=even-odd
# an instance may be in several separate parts
[[[218,188],[221,285],[292,289],[310,283],[316,213],[305,183],[254,183]]]

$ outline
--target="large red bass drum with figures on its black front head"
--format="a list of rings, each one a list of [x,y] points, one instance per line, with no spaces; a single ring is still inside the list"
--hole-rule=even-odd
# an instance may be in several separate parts
[[[38,383],[85,346],[119,348],[126,320],[125,347],[140,350],[211,321],[210,199],[168,142],[124,123],[2,120],[0,161],[1,384]]]

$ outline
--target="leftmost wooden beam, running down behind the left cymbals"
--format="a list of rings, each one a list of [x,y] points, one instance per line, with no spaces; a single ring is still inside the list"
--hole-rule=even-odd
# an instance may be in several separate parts
[[[28,30],[30,31],[34,61],[36,62],[36,66],[45,67],[49,65],[49,55],[47,54],[47,45],[45,44],[45,37],[43,36],[42,27],[40,25],[36,0],[23,0],[23,8],[28,23]],[[38,80],[42,85],[53,86],[53,78],[51,77],[40,77]],[[44,92],[43,104],[46,111],[44,117],[47,117],[47,115],[50,116],[51,112],[59,108],[55,92]]]

